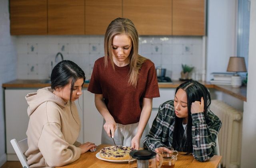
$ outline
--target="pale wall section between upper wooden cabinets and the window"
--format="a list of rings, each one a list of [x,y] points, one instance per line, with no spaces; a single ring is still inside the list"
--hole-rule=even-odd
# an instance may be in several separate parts
[[[212,72],[226,72],[236,56],[236,0],[208,0],[206,81]]]

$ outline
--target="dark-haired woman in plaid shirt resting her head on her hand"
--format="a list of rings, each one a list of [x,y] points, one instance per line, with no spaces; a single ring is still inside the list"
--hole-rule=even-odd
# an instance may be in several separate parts
[[[201,162],[214,155],[220,119],[208,108],[211,104],[207,88],[191,80],[180,84],[174,100],[160,105],[144,147],[161,152],[164,147],[193,153]]]

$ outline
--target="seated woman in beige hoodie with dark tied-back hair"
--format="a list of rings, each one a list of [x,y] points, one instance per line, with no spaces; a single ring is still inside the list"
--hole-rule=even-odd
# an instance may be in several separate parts
[[[28,150],[31,168],[56,167],[74,162],[80,154],[96,151],[94,143],[78,143],[80,119],[74,101],[82,94],[85,75],[72,61],[52,70],[51,87],[26,96],[28,102]]]

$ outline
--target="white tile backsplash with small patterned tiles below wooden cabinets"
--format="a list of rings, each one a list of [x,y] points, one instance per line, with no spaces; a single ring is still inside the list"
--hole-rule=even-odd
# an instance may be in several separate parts
[[[83,36],[18,36],[18,78],[48,78],[61,52],[64,59],[77,63],[89,79],[96,59],[104,56],[103,35]],[[195,66],[194,73],[202,70],[202,37],[141,36],[139,54],[149,58],[155,66],[166,68],[166,76],[180,78],[181,64]],[[31,68],[34,66],[34,71]],[[33,68],[32,68],[33,69]]]

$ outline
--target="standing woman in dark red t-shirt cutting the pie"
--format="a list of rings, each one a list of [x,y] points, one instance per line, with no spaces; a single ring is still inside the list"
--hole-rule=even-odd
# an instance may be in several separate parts
[[[117,18],[108,25],[104,49],[88,86],[104,117],[102,143],[113,144],[112,135],[116,145],[138,149],[143,132],[148,132],[152,98],[160,96],[154,63],[138,54],[138,32],[129,19]]]

